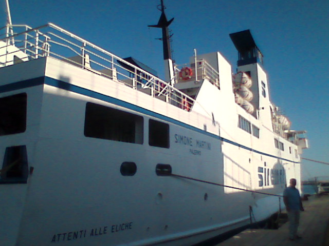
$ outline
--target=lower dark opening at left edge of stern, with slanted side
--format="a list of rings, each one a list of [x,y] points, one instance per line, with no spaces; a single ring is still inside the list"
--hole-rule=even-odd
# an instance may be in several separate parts
[[[26,146],[7,147],[0,172],[0,183],[26,183],[27,177]]]

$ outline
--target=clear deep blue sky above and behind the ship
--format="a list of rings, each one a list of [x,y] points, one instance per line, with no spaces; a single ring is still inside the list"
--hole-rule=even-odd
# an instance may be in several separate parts
[[[5,24],[5,1],[0,0]],[[236,69],[229,33],[250,29],[264,55],[271,100],[306,130],[310,149],[303,157],[329,162],[329,1],[164,0],[175,17],[173,58],[188,62],[220,51]],[[121,57],[133,56],[163,77],[157,24],[160,0],[11,0],[14,24],[54,23]],[[302,161],[303,178],[327,176],[329,165]]]

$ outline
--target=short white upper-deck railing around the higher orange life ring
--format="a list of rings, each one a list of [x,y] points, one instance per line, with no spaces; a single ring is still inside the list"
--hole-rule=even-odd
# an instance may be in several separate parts
[[[180,71],[183,68],[190,69],[190,71],[192,71],[191,76],[181,77]],[[209,63],[207,63],[205,59],[197,59],[196,63],[175,65],[175,79],[177,83],[208,79],[211,84],[220,88],[220,76],[218,72]]]

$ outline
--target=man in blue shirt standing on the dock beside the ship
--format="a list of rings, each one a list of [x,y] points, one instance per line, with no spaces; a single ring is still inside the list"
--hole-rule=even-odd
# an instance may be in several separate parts
[[[290,186],[283,191],[283,201],[288,212],[289,239],[295,240],[301,237],[297,235],[300,211],[304,211],[299,191],[296,189],[296,179],[290,179]]]

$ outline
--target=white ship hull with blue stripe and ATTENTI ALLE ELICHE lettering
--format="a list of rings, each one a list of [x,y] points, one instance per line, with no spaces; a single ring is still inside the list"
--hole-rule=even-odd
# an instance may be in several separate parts
[[[283,208],[257,192],[282,195],[290,177],[300,180],[300,157],[287,151],[298,147],[235,104],[230,65],[220,53],[211,60],[221,89],[204,79],[189,111],[50,56],[0,68],[0,98],[27,96],[26,130],[0,136],[0,158],[25,146],[29,172],[0,183],[2,245],[191,245]],[[135,143],[87,137],[88,104],[142,119]],[[260,136],[239,128],[239,116]],[[150,120],[167,124],[167,147],[150,144]],[[123,175],[124,162],[137,171]],[[219,185],[159,176],[158,164]]]

